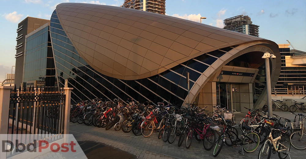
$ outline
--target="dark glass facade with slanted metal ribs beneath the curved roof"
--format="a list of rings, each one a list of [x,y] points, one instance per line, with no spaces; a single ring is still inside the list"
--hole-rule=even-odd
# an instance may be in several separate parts
[[[212,63],[232,49],[224,48],[200,55],[146,79],[121,80],[95,71],[80,57],[62,29],[56,11],[50,19],[50,34],[58,84],[62,87],[65,79],[68,79],[69,87],[74,88],[73,101],[93,98],[119,98],[126,101],[133,98],[139,102],[167,100],[181,105],[188,94],[186,71],[190,73],[191,88]]]

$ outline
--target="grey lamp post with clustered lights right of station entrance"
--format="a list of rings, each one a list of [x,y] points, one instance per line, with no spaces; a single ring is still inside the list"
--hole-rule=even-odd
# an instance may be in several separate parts
[[[271,75],[270,75],[270,61],[269,58],[276,58],[273,54],[266,52],[261,58],[265,59],[266,65],[266,81],[267,81],[267,100],[268,100],[268,113],[269,117],[272,117],[272,97],[271,97]]]

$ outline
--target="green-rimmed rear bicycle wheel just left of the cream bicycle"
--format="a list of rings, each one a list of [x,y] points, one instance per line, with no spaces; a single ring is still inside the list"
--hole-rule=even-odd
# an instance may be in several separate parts
[[[258,146],[259,146],[259,142],[260,142],[260,137],[257,133],[255,132],[251,132],[245,135],[244,139],[243,139],[243,150],[245,152],[254,152]]]

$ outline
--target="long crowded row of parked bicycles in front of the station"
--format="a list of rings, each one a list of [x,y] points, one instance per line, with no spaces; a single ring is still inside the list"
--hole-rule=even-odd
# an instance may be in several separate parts
[[[94,125],[106,130],[132,133],[149,137],[158,133],[158,139],[169,144],[178,137],[177,146],[188,149],[192,140],[203,142],[205,150],[218,156],[222,147],[242,147],[240,154],[254,152],[260,144],[258,158],[270,158],[271,153],[285,159],[290,156],[292,145],[298,150],[306,149],[305,116],[297,114],[289,126],[289,119],[274,115],[269,118],[265,109],[248,109],[245,118],[236,123],[235,110],[214,106],[214,112],[206,114],[205,108],[188,104],[186,107],[171,105],[168,101],[157,104],[138,103],[132,99],[103,101],[95,99],[71,105],[70,121]],[[292,112],[293,113],[293,112]],[[294,113],[293,113],[294,114]],[[295,115],[295,114],[294,114]],[[241,135],[238,135],[238,132]]]

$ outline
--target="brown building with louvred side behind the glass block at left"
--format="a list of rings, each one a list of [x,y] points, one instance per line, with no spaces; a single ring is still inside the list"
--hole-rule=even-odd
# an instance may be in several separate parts
[[[15,64],[15,85],[20,86],[23,80],[23,66],[24,66],[24,44],[25,36],[35,29],[43,26],[44,24],[50,22],[47,19],[39,19],[33,17],[26,17],[18,24],[17,28],[17,45],[16,45],[16,64]]]

